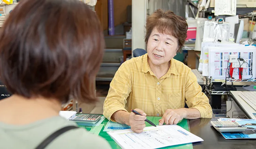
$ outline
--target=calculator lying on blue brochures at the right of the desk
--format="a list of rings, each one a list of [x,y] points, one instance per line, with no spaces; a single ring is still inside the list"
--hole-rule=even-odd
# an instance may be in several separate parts
[[[211,124],[218,132],[242,132],[247,129],[236,121],[211,121]]]

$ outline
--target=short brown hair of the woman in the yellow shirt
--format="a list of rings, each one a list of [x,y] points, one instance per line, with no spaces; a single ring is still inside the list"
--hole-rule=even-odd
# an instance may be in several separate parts
[[[146,44],[152,31],[156,28],[161,33],[173,35],[178,41],[178,51],[181,52],[187,38],[188,25],[185,18],[175,15],[170,10],[164,11],[162,9],[158,9],[147,17],[145,28]]]

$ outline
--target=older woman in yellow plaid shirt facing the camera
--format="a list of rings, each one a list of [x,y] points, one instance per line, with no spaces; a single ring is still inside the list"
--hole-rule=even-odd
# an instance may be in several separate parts
[[[211,118],[207,96],[188,66],[173,57],[187,37],[187,23],[172,11],[156,10],[146,20],[147,54],[124,62],[116,72],[103,115],[140,133],[146,115],[162,116],[159,125],[183,118]],[[185,103],[189,108],[184,108]],[[135,115],[136,109],[143,116]],[[129,111],[129,112],[128,112]]]

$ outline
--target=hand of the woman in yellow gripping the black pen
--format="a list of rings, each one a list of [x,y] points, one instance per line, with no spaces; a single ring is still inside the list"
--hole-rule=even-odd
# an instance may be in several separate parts
[[[145,128],[145,119],[146,119],[146,114],[144,111],[141,109],[134,109],[141,115],[136,115],[133,112],[129,114],[129,124],[131,126],[131,130],[136,132],[136,133],[141,133],[143,132],[143,129]]]

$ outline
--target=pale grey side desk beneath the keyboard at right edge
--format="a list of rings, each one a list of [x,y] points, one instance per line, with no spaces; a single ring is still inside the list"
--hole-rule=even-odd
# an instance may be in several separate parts
[[[241,92],[242,91],[230,91],[230,95],[247,118],[255,119],[255,116],[252,113],[256,113],[256,111],[238,95]]]

